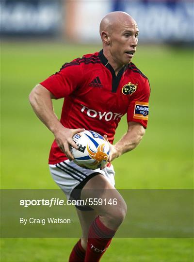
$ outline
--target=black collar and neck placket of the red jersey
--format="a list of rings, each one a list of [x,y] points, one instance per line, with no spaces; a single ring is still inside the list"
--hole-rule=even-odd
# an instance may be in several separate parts
[[[120,71],[118,72],[117,76],[115,74],[115,71],[113,69],[113,67],[109,64],[108,59],[104,56],[103,54],[103,49],[99,51],[99,59],[101,61],[101,63],[108,68],[111,71],[113,80],[112,80],[112,92],[116,93],[119,82],[121,80],[122,75],[124,74],[124,72],[127,70],[128,66],[123,66]]]

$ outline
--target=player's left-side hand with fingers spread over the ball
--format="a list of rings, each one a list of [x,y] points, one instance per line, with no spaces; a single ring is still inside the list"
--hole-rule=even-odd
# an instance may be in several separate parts
[[[67,158],[71,161],[74,160],[73,155],[70,152],[70,146],[78,149],[78,146],[76,143],[72,140],[72,137],[80,133],[82,131],[85,131],[85,129],[68,129],[65,127],[61,127],[57,131],[54,132],[54,136],[57,142],[57,145],[60,147],[60,149],[65,153]]]

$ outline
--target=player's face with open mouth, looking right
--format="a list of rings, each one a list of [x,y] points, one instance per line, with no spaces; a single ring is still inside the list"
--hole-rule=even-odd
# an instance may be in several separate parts
[[[127,65],[131,61],[138,42],[135,21],[117,24],[110,34],[110,52],[115,63]]]

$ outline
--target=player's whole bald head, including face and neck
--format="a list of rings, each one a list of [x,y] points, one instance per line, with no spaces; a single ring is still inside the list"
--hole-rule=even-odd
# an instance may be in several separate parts
[[[112,12],[100,23],[103,54],[115,72],[128,65],[136,51],[139,29],[125,12]]]

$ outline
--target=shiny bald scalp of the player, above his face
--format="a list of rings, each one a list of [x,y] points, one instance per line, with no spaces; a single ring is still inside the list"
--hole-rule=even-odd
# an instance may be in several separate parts
[[[120,11],[111,12],[104,16],[100,22],[100,35],[102,36],[102,32],[111,34],[114,29],[116,30],[120,26],[129,23],[136,24],[135,20],[129,14]]]

